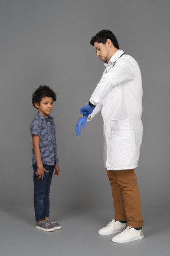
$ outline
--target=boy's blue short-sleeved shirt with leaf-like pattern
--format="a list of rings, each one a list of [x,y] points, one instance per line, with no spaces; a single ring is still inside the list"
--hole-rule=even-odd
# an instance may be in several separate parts
[[[48,120],[49,119],[49,120]],[[48,118],[38,112],[30,126],[31,134],[40,137],[40,152],[42,164],[58,164],[57,145],[55,141],[55,124],[53,117]],[[36,163],[34,149],[32,149],[32,165]]]

